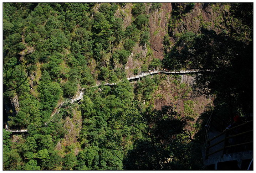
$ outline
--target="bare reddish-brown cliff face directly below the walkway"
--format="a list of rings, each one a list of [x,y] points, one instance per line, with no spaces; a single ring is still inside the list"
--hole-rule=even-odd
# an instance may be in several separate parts
[[[154,93],[152,99],[154,108],[160,110],[162,106],[174,103],[179,114],[190,115],[196,119],[205,111],[206,106],[212,105],[212,100],[206,99],[203,95],[199,97],[193,95],[190,88],[193,79],[194,77],[190,75],[181,75],[179,78],[167,76]]]

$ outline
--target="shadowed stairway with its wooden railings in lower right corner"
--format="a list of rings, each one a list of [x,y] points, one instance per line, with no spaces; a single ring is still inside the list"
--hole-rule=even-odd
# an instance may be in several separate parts
[[[202,149],[206,169],[247,170],[253,159],[253,120],[246,121],[231,129],[226,128],[221,132],[211,126],[212,116],[213,114],[205,126],[205,147]],[[244,130],[232,134],[232,131],[237,128],[244,128]]]

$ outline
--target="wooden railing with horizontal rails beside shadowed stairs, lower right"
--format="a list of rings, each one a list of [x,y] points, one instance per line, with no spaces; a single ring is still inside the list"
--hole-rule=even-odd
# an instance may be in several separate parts
[[[210,116],[210,118],[209,118],[209,124],[207,124],[207,125],[210,125],[211,119],[212,119],[212,115]],[[207,144],[205,159],[208,159],[209,156],[211,156],[212,154],[215,154],[215,153],[217,153],[217,152],[220,152],[220,151],[223,151],[223,152],[222,152],[222,156],[223,156],[224,154],[226,154],[228,148],[238,147],[238,146],[243,146],[243,145],[248,145],[248,144],[253,143],[252,140],[251,140],[251,141],[241,140],[240,143],[236,143],[236,144],[233,144],[233,145],[230,145],[230,144],[228,143],[228,141],[229,141],[230,138],[238,137],[238,136],[245,135],[245,134],[247,134],[247,133],[253,132],[253,129],[249,129],[249,130],[247,129],[247,131],[243,131],[243,132],[240,132],[240,133],[237,133],[237,134],[234,134],[234,135],[230,134],[232,131],[237,130],[238,128],[240,128],[240,127],[242,127],[242,126],[245,126],[245,125],[247,125],[247,128],[248,128],[248,127],[249,127],[249,128],[252,127],[252,126],[248,126],[248,125],[250,125],[250,123],[252,123],[252,122],[253,122],[253,120],[247,121],[247,122],[244,122],[243,124],[237,125],[237,126],[232,127],[232,128],[230,128],[230,129],[229,129],[228,127],[226,127],[226,129],[225,129],[223,132],[219,133],[217,136],[215,136],[215,137],[213,137],[213,138],[211,138],[211,139],[209,139],[209,137],[208,137],[208,131],[209,131],[209,129],[208,129],[208,131],[207,131],[207,128],[205,128],[205,129],[206,129],[205,140],[206,140],[206,144]],[[220,136],[222,136],[222,135],[224,135],[224,134],[225,134],[225,138],[224,138],[224,139],[219,140],[219,141],[215,142],[214,144],[210,145],[210,142],[211,142],[211,141],[215,140],[216,138],[219,138]],[[250,140],[250,139],[249,139],[249,140]],[[223,146],[222,148],[220,148],[219,150],[216,150],[216,151],[214,151],[214,152],[209,153],[210,148],[212,148],[212,147],[214,147],[214,146],[216,146],[216,145],[218,145],[218,144],[220,144],[220,143],[222,143],[222,142],[224,142],[224,146]]]

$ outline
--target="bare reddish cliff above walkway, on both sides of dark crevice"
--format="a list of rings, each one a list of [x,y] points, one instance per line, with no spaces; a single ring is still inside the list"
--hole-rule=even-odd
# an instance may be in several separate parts
[[[150,14],[150,44],[155,58],[163,59],[164,36],[169,36],[171,45],[184,32],[200,33],[201,28],[219,33],[225,30],[225,17],[230,5],[226,3],[162,3],[160,10]],[[177,10],[178,9],[178,10]],[[179,11],[179,14],[175,13]],[[174,11],[174,12],[173,12]]]

